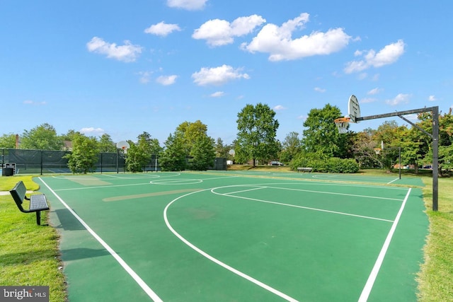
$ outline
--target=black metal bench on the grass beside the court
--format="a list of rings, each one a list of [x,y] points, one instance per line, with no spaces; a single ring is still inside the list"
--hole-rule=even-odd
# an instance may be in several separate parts
[[[25,188],[25,185],[23,184],[23,181],[21,180],[20,182],[16,183],[16,185],[13,187],[13,189],[9,190],[11,193],[11,196],[13,197],[14,201],[17,204],[17,207],[19,210],[21,210],[23,213],[36,213],[36,223],[38,226],[41,225],[41,211],[45,211],[49,209],[49,205],[47,204],[47,199],[45,198],[45,194],[35,194],[35,195],[30,195],[30,198],[25,196],[25,193],[27,192],[27,189]],[[30,201],[30,207],[28,207],[28,210],[23,209],[22,203],[23,199],[29,200]]]

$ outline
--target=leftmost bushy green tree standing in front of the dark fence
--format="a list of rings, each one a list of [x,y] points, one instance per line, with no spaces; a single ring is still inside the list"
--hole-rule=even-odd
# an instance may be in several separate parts
[[[74,135],[71,153],[68,158],[68,167],[72,173],[88,173],[96,170],[98,163],[99,143],[96,137],[86,137],[84,134]]]

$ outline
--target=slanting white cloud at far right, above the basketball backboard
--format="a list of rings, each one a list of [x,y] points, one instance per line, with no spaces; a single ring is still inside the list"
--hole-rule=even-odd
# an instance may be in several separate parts
[[[352,72],[363,71],[371,67],[379,68],[384,65],[393,64],[403,55],[404,47],[403,40],[398,40],[398,42],[386,45],[377,53],[374,50],[368,50],[366,52],[357,50],[354,55],[356,57],[362,56],[363,59],[348,62],[344,71],[346,74],[352,74]]]

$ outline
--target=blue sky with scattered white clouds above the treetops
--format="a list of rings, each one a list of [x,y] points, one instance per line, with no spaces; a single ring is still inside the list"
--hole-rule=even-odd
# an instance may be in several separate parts
[[[3,0],[0,135],[48,123],[163,143],[200,120],[230,144],[241,109],[265,103],[282,141],[312,108],[347,115],[352,94],[362,116],[447,112],[452,11],[447,0]]]

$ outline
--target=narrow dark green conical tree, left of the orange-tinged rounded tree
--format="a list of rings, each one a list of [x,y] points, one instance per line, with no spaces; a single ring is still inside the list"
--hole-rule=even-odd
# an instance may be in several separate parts
[[[186,167],[186,153],[183,138],[180,134],[170,134],[165,141],[160,163],[164,171],[181,171]]]

